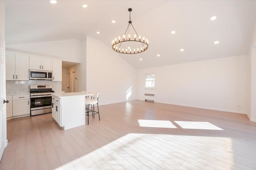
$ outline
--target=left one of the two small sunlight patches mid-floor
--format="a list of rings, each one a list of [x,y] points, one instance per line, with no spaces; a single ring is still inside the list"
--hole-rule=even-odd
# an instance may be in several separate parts
[[[140,127],[177,128],[171,121],[138,119],[138,123]]]

